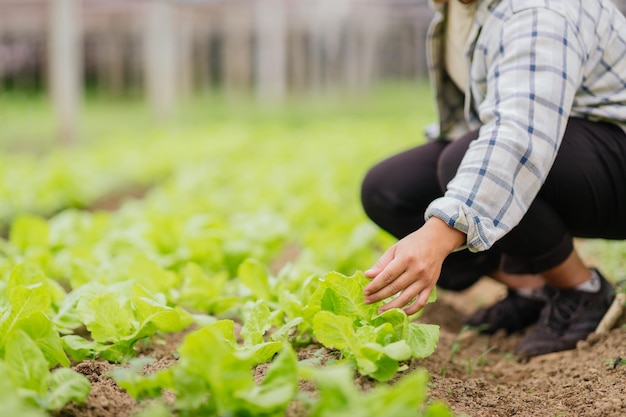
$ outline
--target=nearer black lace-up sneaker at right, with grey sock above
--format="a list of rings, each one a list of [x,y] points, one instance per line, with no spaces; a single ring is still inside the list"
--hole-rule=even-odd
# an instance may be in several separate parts
[[[579,340],[586,339],[596,329],[615,293],[613,286],[598,271],[595,272],[600,278],[597,293],[550,289],[537,326],[515,348],[519,358],[574,349]]]

